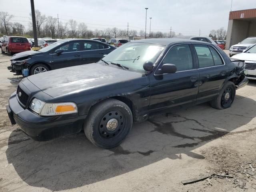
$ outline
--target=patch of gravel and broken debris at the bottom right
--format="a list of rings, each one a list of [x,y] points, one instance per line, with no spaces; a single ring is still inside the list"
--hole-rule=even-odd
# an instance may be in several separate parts
[[[203,185],[213,186],[214,180],[225,179],[226,182],[233,184],[234,188],[256,189],[256,160],[247,159],[245,155],[238,154],[225,147],[212,147],[206,151],[200,151],[205,159],[216,165],[213,168],[207,168],[205,175],[197,178],[184,180],[182,184],[190,184],[206,180]],[[212,171],[211,171],[212,170]],[[205,186],[204,186],[205,188]]]

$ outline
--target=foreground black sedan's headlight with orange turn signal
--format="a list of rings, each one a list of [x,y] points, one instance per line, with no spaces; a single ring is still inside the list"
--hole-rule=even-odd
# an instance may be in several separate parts
[[[36,98],[32,100],[29,108],[42,116],[54,116],[77,113],[77,106],[72,102],[45,103]]]

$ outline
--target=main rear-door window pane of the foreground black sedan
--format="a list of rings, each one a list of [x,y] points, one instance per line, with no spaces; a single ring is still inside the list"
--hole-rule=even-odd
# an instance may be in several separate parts
[[[194,45],[198,57],[199,68],[212,67],[214,61],[207,45]]]

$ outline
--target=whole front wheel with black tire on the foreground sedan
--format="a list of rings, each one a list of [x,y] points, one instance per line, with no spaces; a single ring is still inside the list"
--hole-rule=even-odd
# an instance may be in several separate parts
[[[112,127],[113,119],[117,124],[114,123]],[[118,146],[131,128],[132,111],[124,102],[116,99],[107,99],[93,106],[84,123],[88,140],[105,149]]]

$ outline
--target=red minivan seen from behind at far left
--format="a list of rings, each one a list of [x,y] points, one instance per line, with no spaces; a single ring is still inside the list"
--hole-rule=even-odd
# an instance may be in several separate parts
[[[30,50],[30,43],[26,37],[6,36],[2,42],[1,52],[19,53]]]

